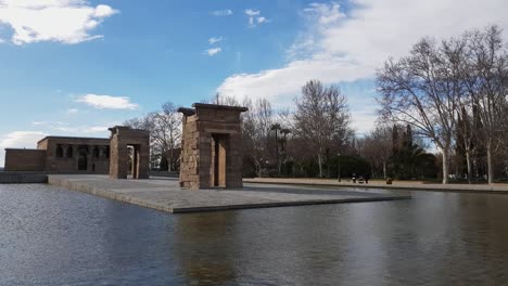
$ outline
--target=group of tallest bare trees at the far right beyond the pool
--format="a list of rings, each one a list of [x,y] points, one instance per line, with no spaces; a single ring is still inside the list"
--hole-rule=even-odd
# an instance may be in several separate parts
[[[465,158],[456,171],[469,180],[483,160],[488,183],[506,173],[508,49],[497,26],[423,38],[408,56],[386,61],[377,86],[383,119],[410,125],[437,146],[443,183],[454,157],[456,165]]]

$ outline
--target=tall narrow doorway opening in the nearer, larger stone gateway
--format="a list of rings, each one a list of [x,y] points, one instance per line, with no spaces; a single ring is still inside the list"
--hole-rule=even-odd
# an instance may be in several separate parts
[[[212,186],[226,187],[228,143],[227,134],[212,135]]]

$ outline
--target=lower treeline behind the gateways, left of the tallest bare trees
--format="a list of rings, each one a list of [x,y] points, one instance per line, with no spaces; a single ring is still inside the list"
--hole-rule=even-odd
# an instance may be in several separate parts
[[[302,88],[301,95],[294,100],[293,112],[276,109],[266,99],[239,102],[216,94],[205,102],[249,107],[242,115],[245,177],[352,178],[356,174],[411,179],[435,176],[433,160],[426,165],[427,169],[419,164],[421,154],[427,153],[412,143],[412,134],[404,135],[408,141],[402,143],[402,139],[385,130],[390,132],[388,138],[395,139],[386,142],[386,161],[379,165],[380,142],[377,140],[384,138],[376,136],[376,132],[356,136],[346,96],[338,87],[325,87],[319,80],[310,80]],[[173,103],[124,123],[151,132],[152,169],[178,170],[181,115]],[[390,130],[397,132],[398,128]],[[416,160],[406,156],[406,147],[416,154]]]

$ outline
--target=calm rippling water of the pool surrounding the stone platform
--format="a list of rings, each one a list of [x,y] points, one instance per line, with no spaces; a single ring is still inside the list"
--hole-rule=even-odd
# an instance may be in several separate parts
[[[0,185],[0,285],[508,285],[508,196],[169,214]]]

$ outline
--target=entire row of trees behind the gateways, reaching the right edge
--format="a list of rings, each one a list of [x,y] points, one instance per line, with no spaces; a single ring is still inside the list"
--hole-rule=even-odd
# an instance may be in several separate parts
[[[242,115],[244,176],[393,179],[508,177],[508,49],[497,26],[436,42],[423,38],[407,56],[377,72],[379,119],[358,136],[347,96],[307,81],[294,109],[266,99],[216,94],[207,103],[249,107]],[[178,170],[181,115],[168,102],[125,122],[151,133],[151,167]],[[426,150],[429,142],[440,153]]]

